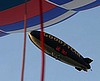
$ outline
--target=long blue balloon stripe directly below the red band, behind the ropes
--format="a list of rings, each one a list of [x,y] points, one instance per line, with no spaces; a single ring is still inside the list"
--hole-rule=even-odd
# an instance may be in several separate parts
[[[54,18],[56,18],[56,17],[58,17],[58,16],[60,16],[64,13],[66,13],[67,11],[68,10],[60,8],[60,7],[56,7],[52,10],[49,10],[48,12],[44,13],[44,22],[52,20],[52,19],[54,19]],[[35,17],[27,20],[28,28],[31,27],[31,26],[38,25],[38,24],[40,24],[40,17],[39,16],[35,16]],[[15,30],[23,29],[23,26],[24,26],[24,22],[21,21],[21,22],[17,22],[17,23],[14,23],[14,24],[1,26],[0,29],[3,30],[3,31],[9,32],[9,31],[15,31]]]

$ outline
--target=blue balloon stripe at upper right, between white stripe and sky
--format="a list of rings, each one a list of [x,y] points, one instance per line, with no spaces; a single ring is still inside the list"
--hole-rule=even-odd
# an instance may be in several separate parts
[[[93,8],[93,7],[96,7],[96,6],[99,6],[99,5],[100,5],[100,0],[97,0],[97,1],[95,1],[93,3],[90,3],[88,5],[85,5],[85,6],[73,9],[73,10],[75,10],[75,11],[82,11],[82,10],[90,9],[90,8]]]

